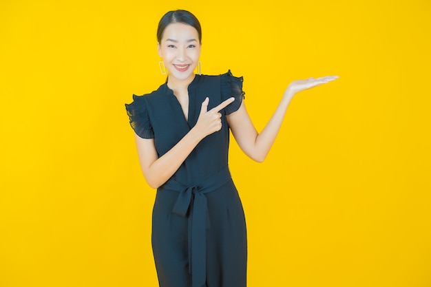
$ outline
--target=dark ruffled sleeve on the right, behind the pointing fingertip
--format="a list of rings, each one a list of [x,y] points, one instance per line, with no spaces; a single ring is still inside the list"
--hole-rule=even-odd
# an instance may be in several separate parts
[[[235,98],[235,100],[230,105],[224,108],[224,112],[229,115],[240,108],[242,99],[245,98],[245,93],[242,91],[242,81],[244,80],[242,76],[239,78],[233,76],[231,70],[229,70],[226,74],[220,75],[220,81],[222,101],[227,100],[232,96]]]

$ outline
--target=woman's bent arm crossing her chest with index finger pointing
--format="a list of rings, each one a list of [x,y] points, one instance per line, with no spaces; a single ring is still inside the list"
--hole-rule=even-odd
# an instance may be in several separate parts
[[[150,187],[157,189],[178,170],[182,162],[200,140],[222,128],[219,111],[233,102],[233,98],[207,111],[209,98],[202,102],[198,122],[174,147],[158,158],[154,139],[140,138],[135,134],[140,168]]]

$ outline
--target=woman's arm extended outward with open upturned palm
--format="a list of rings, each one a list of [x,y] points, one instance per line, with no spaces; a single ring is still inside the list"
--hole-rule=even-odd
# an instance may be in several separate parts
[[[338,76],[325,76],[322,78],[308,78],[307,80],[294,81],[288,85],[280,104],[262,132],[257,133],[244,102],[238,111],[227,116],[229,127],[238,145],[244,153],[257,162],[263,162],[271,149],[278,131],[286,114],[287,107],[293,96],[304,89],[310,89],[335,80]]]

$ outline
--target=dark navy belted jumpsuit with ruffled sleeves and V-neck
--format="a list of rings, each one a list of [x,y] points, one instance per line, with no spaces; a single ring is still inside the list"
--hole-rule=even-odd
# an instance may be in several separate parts
[[[188,87],[188,121],[167,84],[133,96],[127,114],[141,138],[154,138],[163,156],[196,125],[202,102],[208,110],[235,97],[220,111],[222,129],[204,138],[180,168],[157,190],[152,246],[160,287],[245,287],[246,224],[228,169],[229,125],[238,110],[242,77],[196,75]]]

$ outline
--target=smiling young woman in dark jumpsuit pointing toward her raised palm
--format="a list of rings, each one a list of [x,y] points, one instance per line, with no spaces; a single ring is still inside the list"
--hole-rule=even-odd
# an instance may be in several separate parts
[[[292,82],[257,133],[242,77],[194,74],[201,36],[193,14],[167,12],[157,31],[167,82],[134,95],[126,109],[143,174],[157,189],[151,239],[160,286],[244,287],[246,224],[228,169],[229,129],[242,151],[262,162],[293,96],[337,76]]]

